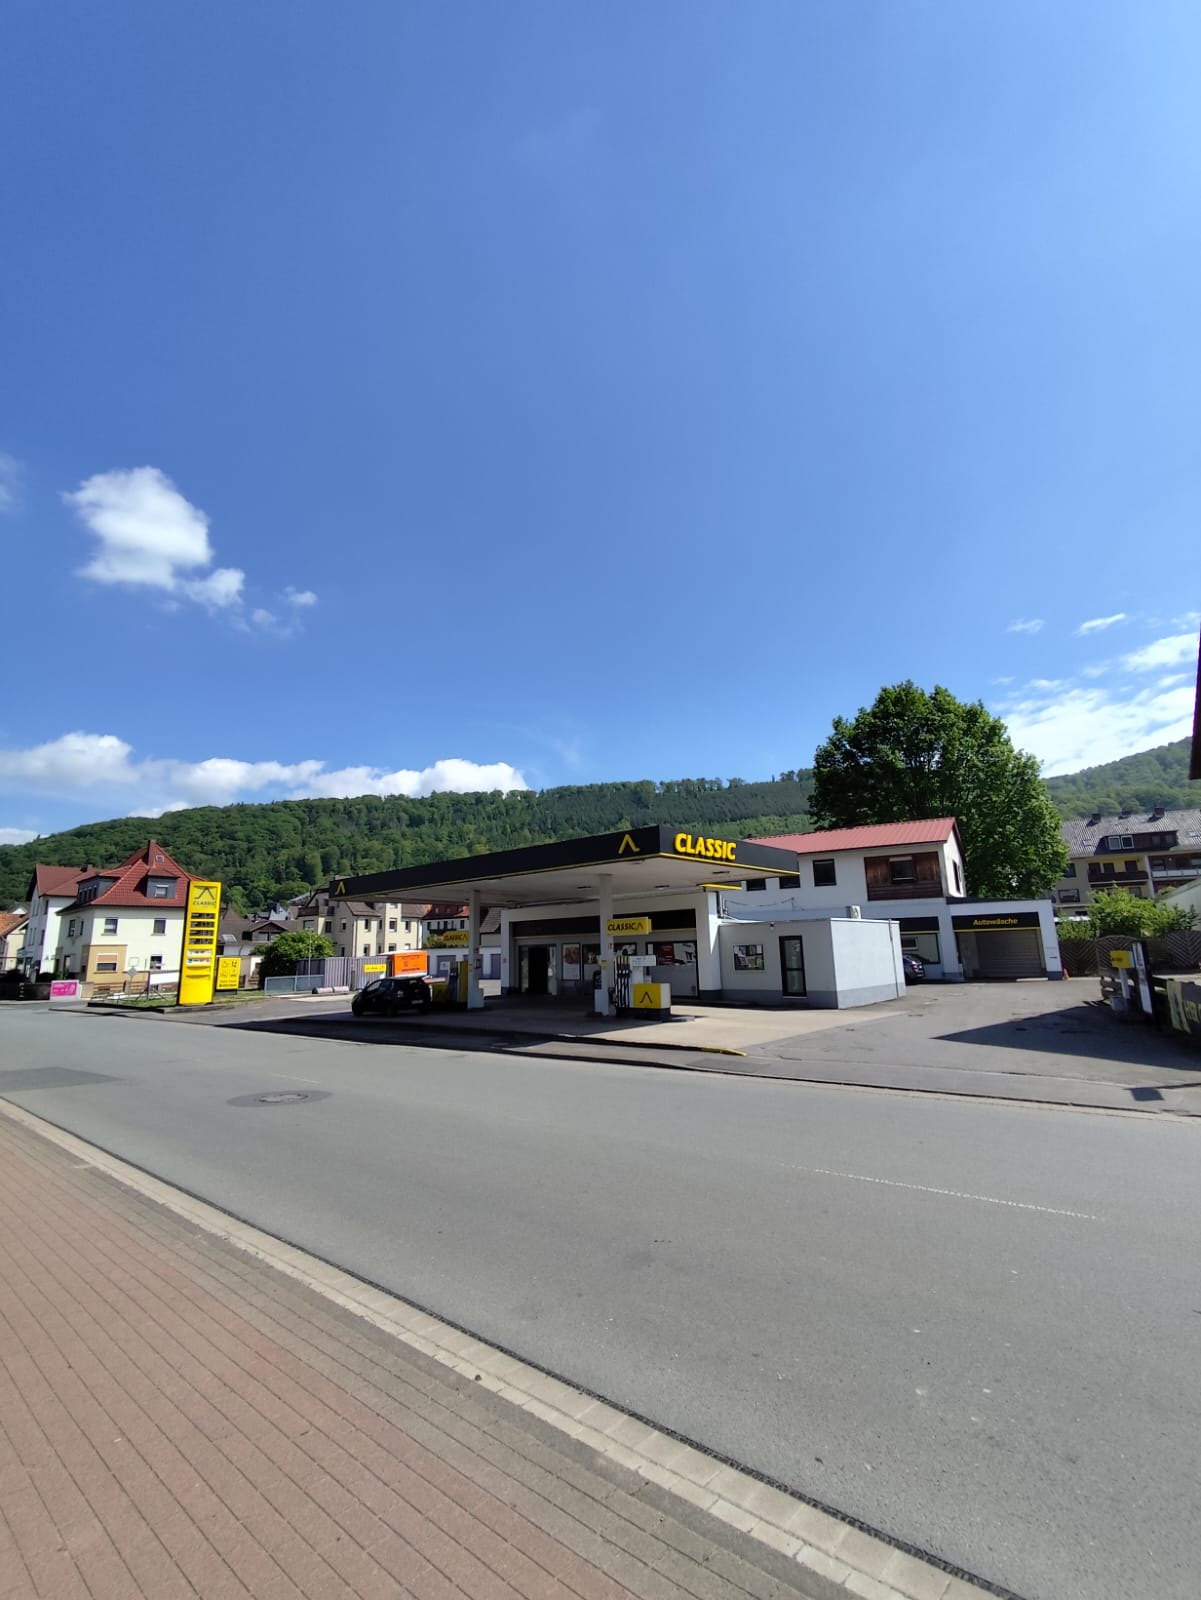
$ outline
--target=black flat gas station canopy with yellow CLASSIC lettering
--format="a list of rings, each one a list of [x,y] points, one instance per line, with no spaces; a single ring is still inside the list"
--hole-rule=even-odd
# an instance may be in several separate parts
[[[614,898],[649,898],[707,886],[736,888],[747,878],[795,872],[796,856],[790,850],[673,827],[633,827],[555,845],[497,850],[424,867],[336,878],[333,896],[461,902],[475,890],[480,904],[489,907],[595,904],[601,880]]]

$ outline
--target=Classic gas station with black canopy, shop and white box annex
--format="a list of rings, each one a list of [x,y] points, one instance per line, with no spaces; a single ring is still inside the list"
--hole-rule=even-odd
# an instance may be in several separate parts
[[[795,851],[638,827],[339,878],[333,893],[467,904],[470,1006],[483,1005],[489,909],[499,910],[502,997],[579,997],[608,1014],[630,1006],[635,982],[670,986],[673,1002],[846,1006],[904,994],[899,928],[854,907],[801,925],[785,914],[739,936],[723,896],[768,877],[798,883]]]

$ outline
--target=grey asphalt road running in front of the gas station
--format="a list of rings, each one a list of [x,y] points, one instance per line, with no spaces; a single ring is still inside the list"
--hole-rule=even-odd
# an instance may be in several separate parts
[[[1196,1125],[34,1006],[0,1094],[1028,1600],[1198,1594]]]

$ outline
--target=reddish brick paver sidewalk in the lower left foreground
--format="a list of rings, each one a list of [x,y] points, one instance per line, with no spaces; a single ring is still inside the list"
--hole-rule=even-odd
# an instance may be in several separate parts
[[[0,1117],[2,1600],[784,1600],[801,1578]]]

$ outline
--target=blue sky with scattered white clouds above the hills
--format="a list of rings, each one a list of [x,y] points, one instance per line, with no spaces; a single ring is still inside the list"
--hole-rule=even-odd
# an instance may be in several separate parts
[[[1201,11],[16,0],[0,840],[1188,731]]]

